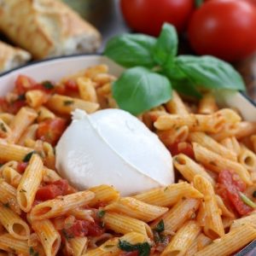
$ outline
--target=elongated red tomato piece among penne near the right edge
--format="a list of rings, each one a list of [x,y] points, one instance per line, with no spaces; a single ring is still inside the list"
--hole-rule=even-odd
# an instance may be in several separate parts
[[[226,170],[220,172],[218,175],[218,186],[222,189],[222,192],[220,192],[219,195],[224,198],[224,201],[230,201],[239,214],[245,215],[252,212],[253,208],[248,207],[241,200],[239,192],[243,191],[246,187],[236,173]]]

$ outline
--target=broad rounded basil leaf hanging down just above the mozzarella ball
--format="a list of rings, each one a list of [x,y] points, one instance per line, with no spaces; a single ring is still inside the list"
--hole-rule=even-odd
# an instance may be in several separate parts
[[[122,108],[138,114],[168,102],[172,98],[171,82],[145,67],[127,69],[113,83],[113,98]]]

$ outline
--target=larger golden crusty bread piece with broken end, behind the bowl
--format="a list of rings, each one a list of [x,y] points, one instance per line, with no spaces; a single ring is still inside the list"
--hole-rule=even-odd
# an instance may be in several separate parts
[[[34,58],[94,52],[95,27],[59,0],[0,0],[0,30]]]

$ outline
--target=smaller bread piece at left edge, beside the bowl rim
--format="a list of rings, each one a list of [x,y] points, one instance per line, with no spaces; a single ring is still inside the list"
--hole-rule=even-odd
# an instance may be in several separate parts
[[[19,67],[31,59],[31,55],[23,49],[15,48],[0,41],[0,73]]]

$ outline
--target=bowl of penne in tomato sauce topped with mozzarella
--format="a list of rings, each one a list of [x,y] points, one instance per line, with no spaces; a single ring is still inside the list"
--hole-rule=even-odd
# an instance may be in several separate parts
[[[139,162],[131,157],[131,165],[126,158],[122,168],[129,164],[133,169],[124,169],[125,176],[116,174],[122,170],[113,172],[115,158],[107,149],[102,154],[91,149],[91,136],[83,150],[97,151],[107,175],[97,173],[97,166],[90,175],[100,182],[90,185],[88,177],[83,189],[76,185],[73,176],[82,172],[82,162],[73,160],[68,148],[78,154],[82,133],[92,131],[83,128],[73,145],[75,116],[84,112],[96,122],[102,118],[97,112],[119,108],[111,84],[123,72],[105,56],[79,55],[41,61],[0,77],[0,253],[219,256],[235,254],[256,240],[256,107],[237,91],[207,91],[200,100],[191,100],[173,90],[168,102],[132,116],[143,128],[137,140],[130,138],[135,146],[129,155],[138,152],[143,133],[154,134],[172,163],[158,164],[159,169],[169,168],[175,174],[172,181],[148,182],[158,178],[153,171],[161,173],[154,161],[166,160],[162,154],[157,158],[158,146],[151,162],[146,159],[149,146],[135,156],[154,166],[152,172],[142,171],[147,177],[137,179],[133,171]],[[122,126],[116,128],[115,120],[119,122],[108,119],[91,127],[98,133],[118,130]],[[141,129],[137,123],[126,125],[129,132]],[[108,139],[119,137],[110,130]],[[124,158],[123,148],[132,145],[124,139],[119,154],[113,148],[117,143],[108,140],[112,153]],[[62,172],[68,159],[73,165]],[[149,188],[143,183],[152,188],[139,189]],[[127,186],[135,188],[132,193],[122,190]]]

